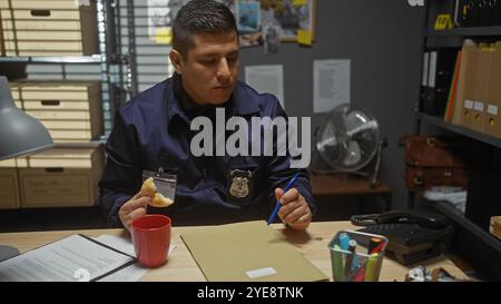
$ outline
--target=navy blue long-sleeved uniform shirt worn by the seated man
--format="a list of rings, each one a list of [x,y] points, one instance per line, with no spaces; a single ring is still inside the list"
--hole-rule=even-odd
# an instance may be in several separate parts
[[[116,112],[99,183],[99,205],[111,225],[120,224],[120,206],[139,192],[143,170],[159,168],[177,175],[175,203],[161,208],[174,225],[266,220],[276,203],[274,189],[285,187],[297,170],[301,175],[295,187],[315,212],[307,171],[292,169],[289,156],[193,156],[190,140],[197,131],[190,130],[190,121],[197,115],[213,120],[215,107],[196,106],[187,100],[184,90],[179,92],[180,81],[175,75],[139,94]],[[249,130],[253,116],[287,118],[273,95],[257,94],[243,82],[237,84],[230,99],[220,107],[226,110],[226,119],[244,117]],[[248,140],[250,147],[252,137]],[[246,185],[248,195],[244,198],[234,199],[228,192],[235,183],[230,175],[235,169],[250,176]]]

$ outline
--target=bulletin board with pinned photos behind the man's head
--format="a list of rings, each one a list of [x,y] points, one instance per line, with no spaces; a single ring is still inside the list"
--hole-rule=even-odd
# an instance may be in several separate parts
[[[189,0],[148,0],[149,37],[170,45],[171,23]],[[315,38],[317,0],[218,0],[235,16],[240,47],[298,42]]]

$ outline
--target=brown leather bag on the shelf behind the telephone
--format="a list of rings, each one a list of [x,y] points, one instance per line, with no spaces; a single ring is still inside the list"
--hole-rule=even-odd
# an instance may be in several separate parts
[[[453,137],[404,136],[405,185],[412,192],[433,186],[466,187],[465,143]]]

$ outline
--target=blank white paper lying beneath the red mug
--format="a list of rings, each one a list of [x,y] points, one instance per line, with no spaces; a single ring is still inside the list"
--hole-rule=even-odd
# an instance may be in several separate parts
[[[116,248],[117,251],[124,252],[126,254],[130,254],[131,256],[136,256],[136,252],[134,251],[134,244],[130,239],[104,234],[96,238],[96,241],[106,244],[110,247]],[[169,255],[176,248],[176,245],[170,244]],[[104,278],[99,280],[99,282],[137,282],[139,281],[149,268],[143,267],[138,263],[127,266],[118,272],[115,272]]]

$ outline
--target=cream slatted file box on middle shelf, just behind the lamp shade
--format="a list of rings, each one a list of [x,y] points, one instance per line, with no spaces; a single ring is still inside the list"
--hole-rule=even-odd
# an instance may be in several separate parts
[[[100,84],[96,81],[12,82],[14,100],[42,122],[55,143],[84,143],[104,131]],[[18,91],[18,92],[14,92]]]

